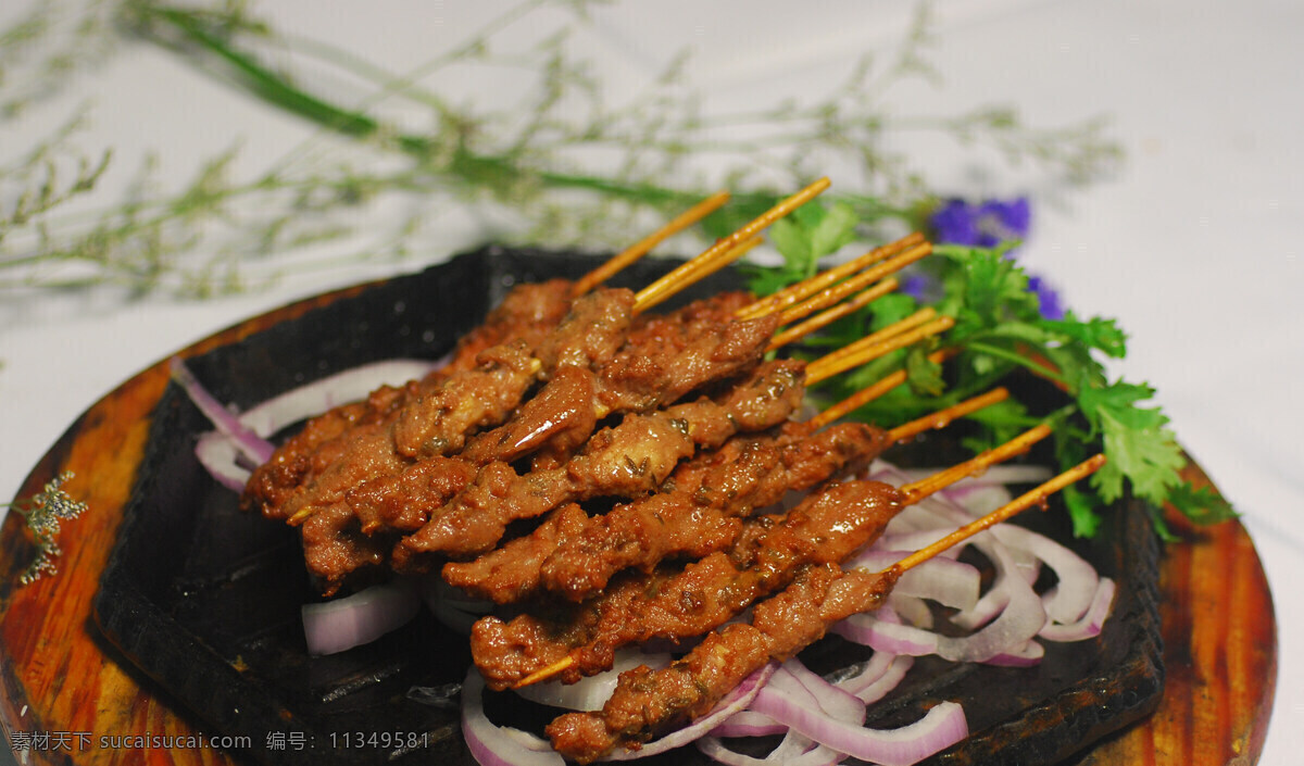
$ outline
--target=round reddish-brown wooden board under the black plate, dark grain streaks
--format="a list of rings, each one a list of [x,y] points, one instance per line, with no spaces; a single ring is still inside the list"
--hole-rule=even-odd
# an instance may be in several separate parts
[[[185,349],[203,353],[363,288],[240,323]],[[27,477],[18,498],[70,472],[68,492],[89,511],[68,522],[56,576],[21,586],[34,547],[22,518],[0,528],[0,723],[25,763],[239,763],[201,746],[202,722],[116,657],[91,601],[143,456],[166,362],[136,375],[74,422]],[[1208,485],[1192,465],[1189,477]],[[1244,528],[1194,529],[1161,565],[1166,688],[1159,709],[1077,757],[1091,766],[1224,766],[1258,759],[1277,681],[1277,624],[1267,580]],[[167,555],[159,551],[159,555]],[[156,744],[132,740],[156,737]],[[128,737],[128,739],[123,739]],[[166,740],[163,737],[172,737]]]

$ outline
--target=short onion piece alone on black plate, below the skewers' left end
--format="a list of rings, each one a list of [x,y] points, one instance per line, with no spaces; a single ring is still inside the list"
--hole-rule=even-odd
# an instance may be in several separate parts
[[[376,641],[421,611],[416,585],[396,580],[344,598],[303,607],[308,653],[335,654]]]

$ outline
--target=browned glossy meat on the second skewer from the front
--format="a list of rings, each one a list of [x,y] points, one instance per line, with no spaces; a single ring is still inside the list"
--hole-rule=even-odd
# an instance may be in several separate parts
[[[747,520],[754,534],[743,550],[649,577],[629,573],[601,595],[552,615],[481,619],[471,634],[472,655],[494,688],[567,657],[572,663],[559,677],[574,683],[610,668],[621,646],[700,636],[786,588],[805,567],[846,559],[876,539],[900,508],[901,495],[889,485],[831,485],[786,515]]]

